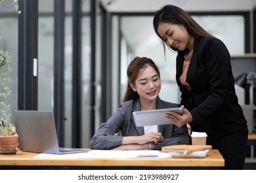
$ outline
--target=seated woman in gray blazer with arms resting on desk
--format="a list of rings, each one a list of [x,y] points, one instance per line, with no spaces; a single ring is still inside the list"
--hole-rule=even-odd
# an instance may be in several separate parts
[[[91,149],[161,150],[162,146],[189,144],[186,125],[135,125],[133,111],[179,107],[179,104],[158,97],[161,90],[160,71],[154,61],[136,57],[129,64],[127,76],[127,91],[123,102],[108,121],[100,125],[91,139]],[[121,135],[116,135],[118,132]]]

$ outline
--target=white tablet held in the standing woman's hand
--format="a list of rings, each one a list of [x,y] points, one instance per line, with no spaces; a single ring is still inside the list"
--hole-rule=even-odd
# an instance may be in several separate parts
[[[142,110],[133,112],[133,117],[137,127],[147,126],[147,125],[165,125],[172,124],[170,120],[165,118],[166,112],[177,112],[182,114],[182,108],[163,108],[156,110]]]

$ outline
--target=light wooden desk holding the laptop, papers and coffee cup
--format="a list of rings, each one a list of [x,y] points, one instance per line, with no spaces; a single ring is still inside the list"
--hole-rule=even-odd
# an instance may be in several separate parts
[[[183,167],[183,169],[202,169],[204,168],[218,168],[224,167],[224,159],[219,153],[219,150],[211,150],[207,157],[202,159],[180,159],[180,158],[141,158],[141,159],[35,159],[37,153],[22,152],[18,151],[17,154],[13,155],[0,155],[0,169],[16,167],[18,166],[50,166],[50,167],[90,167],[90,169],[106,169],[106,167],[113,168],[116,167],[120,169],[121,167],[129,168],[133,167],[154,167],[161,169],[170,169],[171,167],[177,169],[178,167]],[[6,167],[8,166],[8,167]],[[30,167],[28,167],[30,168]]]

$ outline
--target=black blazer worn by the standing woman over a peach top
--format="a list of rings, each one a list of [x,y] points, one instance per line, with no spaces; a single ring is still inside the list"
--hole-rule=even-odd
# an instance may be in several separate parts
[[[181,105],[190,110],[194,119],[190,123],[192,131],[204,131],[207,141],[213,141],[240,129],[247,130],[235,93],[230,54],[224,43],[215,38],[195,38],[186,75],[191,91],[179,82],[186,52],[178,52],[176,80],[181,90]]]

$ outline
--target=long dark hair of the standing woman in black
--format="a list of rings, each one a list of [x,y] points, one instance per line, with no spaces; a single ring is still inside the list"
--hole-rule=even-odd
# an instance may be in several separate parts
[[[160,23],[171,23],[184,25],[188,33],[193,37],[213,37],[213,35],[207,33],[205,29],[203,29],[189,14],[188,12],[182,10],[182,8],[173,6],[173,5],[165,5],[160,10],[158,10],[154,16],[153,25],[158,37],[161,36],[158,33],[158,26]],[[165,41],[161,39],[163,43],[163,48],[165,52]],[[167,45],[168,46],[168,45]],[[179,51],[177,48],[168,46],[171,50]]]

